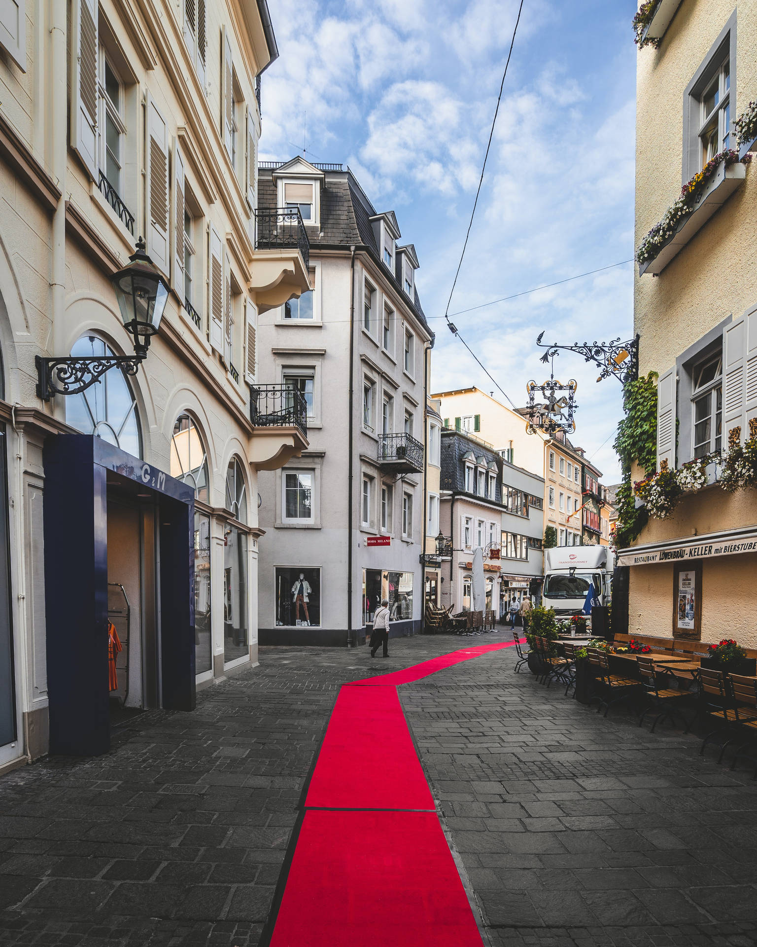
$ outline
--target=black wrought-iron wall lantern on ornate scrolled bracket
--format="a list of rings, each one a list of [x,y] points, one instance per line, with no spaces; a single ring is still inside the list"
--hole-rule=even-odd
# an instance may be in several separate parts
[[[145,252],[140,237],[130,262],[111,277],[124,329],[134,340],[133,355],[88,355],[81,358],[44,358],[38,355],[37,397],[48,402],[54,395],[78,395],[117,366],[135,375],[147,358],[150,338],[158,331],[166,309],[169,287]]]

